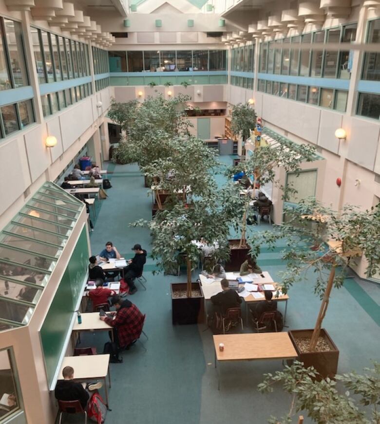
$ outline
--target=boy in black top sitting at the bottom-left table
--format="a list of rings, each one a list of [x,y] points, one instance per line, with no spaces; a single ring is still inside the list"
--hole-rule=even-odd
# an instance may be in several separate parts
[[[58,380],[56,390],[54,392],[58,401],[79,401],[83,409],[86,409],[90,399],[90,394],[87,390],[93,391],[101,388],[102,383],[89,384],[87,390],[83,388],[81,383],[76,383],[74,380],[74,368],[65,367],[62,370],[63,380]]]

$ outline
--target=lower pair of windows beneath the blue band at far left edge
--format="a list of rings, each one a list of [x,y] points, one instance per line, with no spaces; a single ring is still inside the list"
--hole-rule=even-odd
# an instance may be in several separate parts
[[[32,100],[5,105],[0,108],[0,137],[24,129],[35,122]]]

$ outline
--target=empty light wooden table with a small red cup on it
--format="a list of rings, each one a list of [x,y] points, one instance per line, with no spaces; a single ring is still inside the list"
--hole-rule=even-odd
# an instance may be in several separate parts
[[[215,349],[215,369],[217,362],[256,361],[267,359],[295,359],[294,349],[287,332],[266,332],[251,334],[217,334],[213,336]],[[219,350],[219,344],[224,344],[224,350]],[[220,377],[218,374],[218,390]]]

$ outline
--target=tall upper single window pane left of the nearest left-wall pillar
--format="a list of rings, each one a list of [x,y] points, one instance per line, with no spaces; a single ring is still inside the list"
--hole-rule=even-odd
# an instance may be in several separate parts
[[[10,19],[4,19],[4,28],[13,74],[13,88],[27,86],[29,85],[29,81],[25,65],[25,52],[22,40],[21,24]],[[2,68],[1,60],[0,52],[0,68]],[[3,73],[1,72],[1,79],[2,75]]]

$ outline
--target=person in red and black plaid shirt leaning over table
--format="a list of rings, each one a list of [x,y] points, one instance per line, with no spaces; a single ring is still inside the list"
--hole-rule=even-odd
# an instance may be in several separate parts
[[[129,300],[122,300],[120,296],[114,296],[111,304],[115,306],[116,312],[109,313],[111,316],[101,316],[100,319],[116,329],[118,347],[124,349],[140,338],[144,315],[136,305]]]

